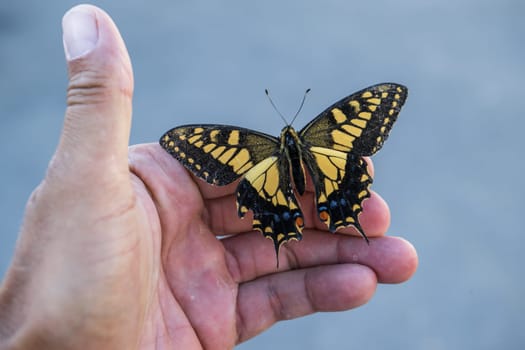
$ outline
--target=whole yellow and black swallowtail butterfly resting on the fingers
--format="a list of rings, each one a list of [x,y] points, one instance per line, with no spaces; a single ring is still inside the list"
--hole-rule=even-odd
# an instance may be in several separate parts
[[[383,83],[341,99],[297,132],[285,126],[279,138],[228,125],[185,125],[166,132],[161,146],[197,177],[215,185],[240,179],[240,217],[251,210],[253,228],[273,240],[276,254],[300,240],[304,217],[296,193],[315,188],[319,219],[331,232],[354,226],[368,241],[358,215],[370,197],[372,177],[362,158],[388,137],[407,89]]]

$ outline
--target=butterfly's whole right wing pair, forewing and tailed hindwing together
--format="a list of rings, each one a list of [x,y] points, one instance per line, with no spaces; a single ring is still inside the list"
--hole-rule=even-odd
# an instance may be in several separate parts
[[[383,146],[406,97],[403,85],[374,85],[334,103],[300,131],[318,215],[330,231],[353,225],[368,241],[358,215],[372,178],[361,157]]]

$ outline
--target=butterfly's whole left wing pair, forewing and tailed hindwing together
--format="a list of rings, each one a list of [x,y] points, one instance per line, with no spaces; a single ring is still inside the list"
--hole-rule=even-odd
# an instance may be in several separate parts
[[[283,243],[301,239],[303,214],[277,138],[226,125],[185,125],[166,132],[160,145],[210,184],[244,176],[237,187],[238,214],[253,211],[253,228],[273,240],[277,254]]]

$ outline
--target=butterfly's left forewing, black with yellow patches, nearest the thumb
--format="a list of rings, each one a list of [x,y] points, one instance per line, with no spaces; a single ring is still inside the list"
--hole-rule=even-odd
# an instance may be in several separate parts
[[[160,145],[195,176],[227,185],[278,150],[277,138],[227,125],[185,125],[160,138]]]

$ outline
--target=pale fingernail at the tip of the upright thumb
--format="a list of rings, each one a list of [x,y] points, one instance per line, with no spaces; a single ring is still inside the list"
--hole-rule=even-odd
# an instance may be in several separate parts
[[[62,18],[62,31],[68,61],[89,53],[98,41],[95,13],[84,6],[69,10]]]

